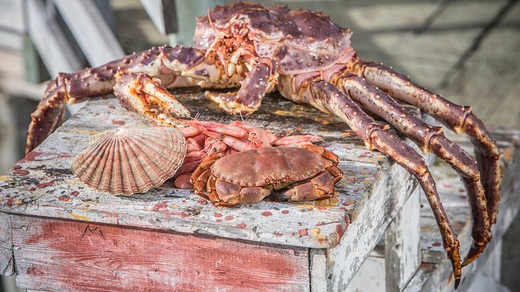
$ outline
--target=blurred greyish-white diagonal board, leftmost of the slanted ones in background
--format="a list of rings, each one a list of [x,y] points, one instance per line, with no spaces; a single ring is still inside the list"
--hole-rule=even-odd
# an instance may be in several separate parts
[[[82,68],[66,36],[56,20],[46,14],[42,0],[24,1],[26,28],[51,76],[59,72],[75,72]]]

